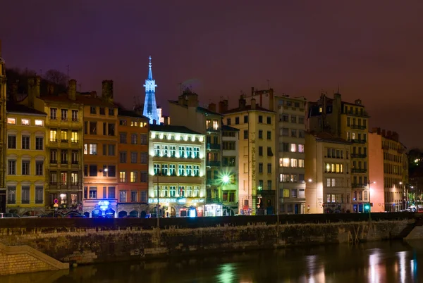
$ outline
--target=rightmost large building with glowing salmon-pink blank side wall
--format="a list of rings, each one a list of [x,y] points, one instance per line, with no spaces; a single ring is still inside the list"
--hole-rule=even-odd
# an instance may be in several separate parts
[[[374,128],[369,132],[369,178],[373,212],[407,208],[407,154],[396,132]]]

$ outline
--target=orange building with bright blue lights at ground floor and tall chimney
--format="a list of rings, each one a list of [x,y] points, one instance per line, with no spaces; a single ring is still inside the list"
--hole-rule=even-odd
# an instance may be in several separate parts
[[[77,97],[84,105],[84,214],[114,218],[118,191],[118,111],[113,103],[113,81],[103,81],[96,92]]]

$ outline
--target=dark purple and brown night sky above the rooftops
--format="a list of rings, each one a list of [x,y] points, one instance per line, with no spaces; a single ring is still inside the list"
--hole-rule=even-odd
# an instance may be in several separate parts
[[[362,99],[371,127],[422,145],[423,1],[3,1],[8,67],[58,69],[82,91],[114,80],[116,101],[144,99],[148,56],[157,101],[180,83],[200,102],[264,89],[315,101],[321,89]],[[78,89],[79,90],[79,89]]]

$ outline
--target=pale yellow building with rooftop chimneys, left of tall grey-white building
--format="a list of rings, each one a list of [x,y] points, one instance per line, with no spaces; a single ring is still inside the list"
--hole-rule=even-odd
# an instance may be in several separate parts
[[[276,192],[275,115],[257,105],[246,105],[244,96],[238,108],[223,112],[226,125],[240,130],[238,144],[240,214],[273,214]]]

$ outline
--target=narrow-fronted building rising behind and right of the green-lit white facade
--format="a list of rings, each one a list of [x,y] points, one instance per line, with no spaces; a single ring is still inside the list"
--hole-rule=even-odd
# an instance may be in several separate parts
[[[222,115],[216,105],[200,107],[198,95],[185,89],[178,101],[169,101],[172,125],[184,125],[190,130],[205,134],[206,138],[206,206],[204,216],[223,215],[223,171],[221,147]]]

